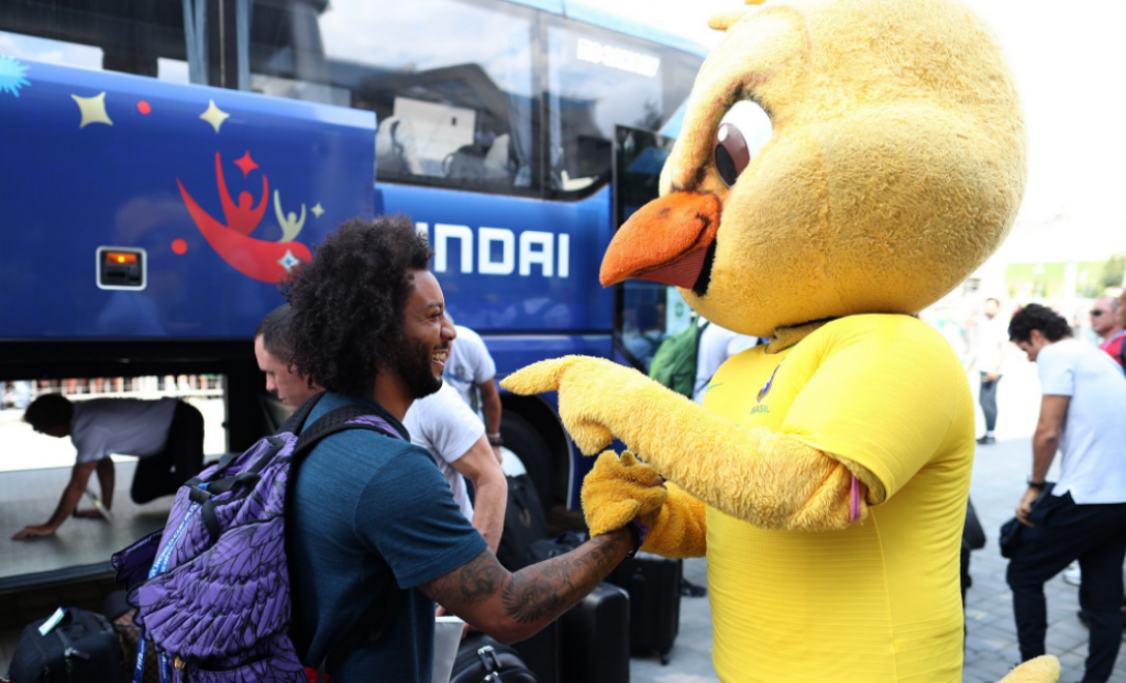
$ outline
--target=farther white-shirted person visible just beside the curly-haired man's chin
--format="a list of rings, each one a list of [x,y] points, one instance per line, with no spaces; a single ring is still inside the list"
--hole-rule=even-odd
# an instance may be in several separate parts
[[[446,313],[453,323],[453,318]],[[462,400],[485,425],[489,445],[500,462],[500,390],[497,388],[497,363],[489,354],[481,335],[461,325],[455,326],[457,338],[449,345],[449,357],[443,379],[452,384]]]

